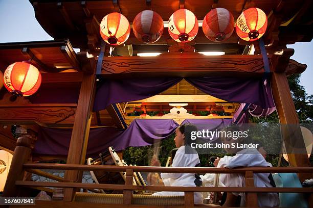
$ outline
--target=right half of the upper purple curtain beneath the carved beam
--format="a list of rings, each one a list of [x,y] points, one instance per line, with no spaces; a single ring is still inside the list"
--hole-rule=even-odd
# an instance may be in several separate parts
[[[187,82],[214,97],[231,101],[253,103],[261,108],[275,107],[273,97],[262,79],[238,77],[188,77]],[[272,95],[272,94],[271,94]]]

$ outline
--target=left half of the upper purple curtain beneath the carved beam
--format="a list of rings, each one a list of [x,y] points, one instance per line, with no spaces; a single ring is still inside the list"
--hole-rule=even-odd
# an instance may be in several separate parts
[[[96,91],[94,111],[113,103],[145,99],[157,95],[180,82],[182,77],[104,80]]]

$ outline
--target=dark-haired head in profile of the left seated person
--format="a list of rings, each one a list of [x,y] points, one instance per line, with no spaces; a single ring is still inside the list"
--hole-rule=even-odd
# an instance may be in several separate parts
[[[180,148],[181,146],[188,145],[191,141],[191,132],[196,132],[197,127],[195,125],[186,123],[183,125],[180,125],[176,128],[175,131],[175,138],[174,142],[177,148]]]

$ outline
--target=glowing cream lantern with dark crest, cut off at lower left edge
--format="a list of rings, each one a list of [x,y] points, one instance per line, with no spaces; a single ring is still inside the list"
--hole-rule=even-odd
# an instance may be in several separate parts
[[[0,191],[3,191],[9,174],[13,155],[5,150],[0,150]]]

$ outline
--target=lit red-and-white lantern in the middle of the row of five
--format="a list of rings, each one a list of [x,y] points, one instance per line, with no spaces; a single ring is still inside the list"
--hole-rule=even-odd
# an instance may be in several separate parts
[[[198,20],[188,9],[179,9],[168,20],[168,32],[177,42],[189,42],[198,33]]]

